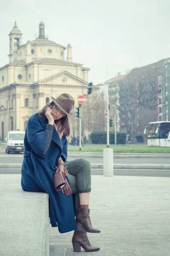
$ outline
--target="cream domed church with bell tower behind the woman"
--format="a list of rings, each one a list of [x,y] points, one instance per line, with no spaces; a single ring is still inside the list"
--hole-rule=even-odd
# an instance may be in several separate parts
[[[65,50],[67,58],[65,61]],[[25,131],[29,117],[61,93],[75,99],[88,86],[89,68],[72,61],[71,44],[59,45],[45,38],[39,24],[39,37],[22,44],[22,32],[14,23],[9,34],[9,63],[0,68],[0,140],[8,131]],[[71,134],[77,134],[72,110]]]

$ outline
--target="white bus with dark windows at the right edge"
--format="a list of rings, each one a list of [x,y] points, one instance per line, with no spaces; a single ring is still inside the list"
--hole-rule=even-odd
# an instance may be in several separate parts
[[[149,147],[170,147],[170,122],[150,122],[144,129]]]

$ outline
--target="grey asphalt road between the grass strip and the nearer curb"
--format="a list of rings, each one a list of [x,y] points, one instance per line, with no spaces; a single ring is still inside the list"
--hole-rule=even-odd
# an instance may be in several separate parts
[[[77,159],[79,154],[77,153],[77,157],[68,157],[68,161]],[[103,158],[88,158],[91,161],[92,164],[102,164]],[[6,154],[2,150],[0,151],[0,163],[22,163],[23,161],[23,154]],[[169,157],[146,157],[146,158],[128,158],[128,157],[122,157],[122,158],[116,158],[114,159],[114,164],[158,164],[158,165],[167,165],[170,164]]]

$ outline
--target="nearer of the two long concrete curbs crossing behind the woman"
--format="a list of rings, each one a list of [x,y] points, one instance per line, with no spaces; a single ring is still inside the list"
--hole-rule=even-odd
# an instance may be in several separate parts
[[[0,169],[21,169],[20,163],[1,163]],[[92,169],[103,169],[102,164],[92,164]],[[147,164],[114,164],[114,169],[149,169],[149,170],[170,170],[170,165],[147,165]]]

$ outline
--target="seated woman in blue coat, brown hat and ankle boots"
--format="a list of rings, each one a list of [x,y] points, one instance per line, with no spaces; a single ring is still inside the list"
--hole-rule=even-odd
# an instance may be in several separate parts
[[[21,186],[24,191],[46,192],[49,195],[49,217],[52,227],[60,233],[72,230],[74,251],[97,251],[88,241],[87,232],[99,233],[91,225],[89,197],[91,192],[91,163],[87,159],[67,160],[67,139],[70,135],[68,116],[74,99],[63,93],[33,114],[27,123],[24,138],[24,159]],[[57,169],[64,173],[67,183],[56,191],[53,177]],[[75,220],[76,215],[76,220]]]

